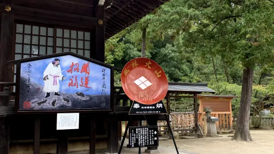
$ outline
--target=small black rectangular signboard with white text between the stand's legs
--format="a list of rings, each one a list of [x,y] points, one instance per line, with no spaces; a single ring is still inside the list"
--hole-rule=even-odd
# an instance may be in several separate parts
[[[129,148],[158,147],[158,126],[129,127]]]

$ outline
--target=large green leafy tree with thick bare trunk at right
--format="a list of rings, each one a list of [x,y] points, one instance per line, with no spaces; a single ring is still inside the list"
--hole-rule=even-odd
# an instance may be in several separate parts
[[[249,132],[253,74],[256,64],[271,63],[274,7],[268,0],[178,0],[192,23],[184,45],[201,55],[220,55],[243,66],[239,122],[233,140],[253,141]]]

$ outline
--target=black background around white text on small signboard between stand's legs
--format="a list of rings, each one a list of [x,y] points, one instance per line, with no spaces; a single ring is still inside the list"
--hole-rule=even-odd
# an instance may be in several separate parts
[[[148,130],[148,138],[146,138],[144,141],[144,145],[139,145],[139,141],[142,139],[138,138],[137,136],[137,130],[138,129],[143,129],[143,130]],[[152,130],[153,136],[150,137],[149,132]],[[133,131],[133,132],[132,132]],[[156,132],[156,134],[155,134]],[[135,134],[135,142],[134,142],[134,134]],[[139,132],[138,132],[139,134]],[[156,140],[155,140],[156,138]],[[150,139],[154,141],[154,144],[149,144]],[[159,146],[159,136],[158,136],[158,126],[136,126],[136,127],[129,127],[129,139],[128,139],[128,144],[129,148],[144,148],[144,147],[158,147]]]

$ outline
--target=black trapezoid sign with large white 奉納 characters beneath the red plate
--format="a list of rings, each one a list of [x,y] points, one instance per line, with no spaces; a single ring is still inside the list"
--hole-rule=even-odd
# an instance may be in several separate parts
[[[162,107],[161,107],[162,106]],[[167,114],[167,109],[163,103],[163,101],[159,101],[158,103],[145,105],[138,103],[137,101],[133,101],[129,115],[131,114]]]

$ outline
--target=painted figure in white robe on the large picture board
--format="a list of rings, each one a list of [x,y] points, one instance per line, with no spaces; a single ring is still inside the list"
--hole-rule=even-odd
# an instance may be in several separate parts
[[[55,59],[48,65],[44,71],[44,91],[47,93],[46,98],[50,96],[50,92],[54,92],[54,95],[60,96],[58,93],[60,90],[59,80],[64,80],[66,77],[62,75],[60,60]]]

